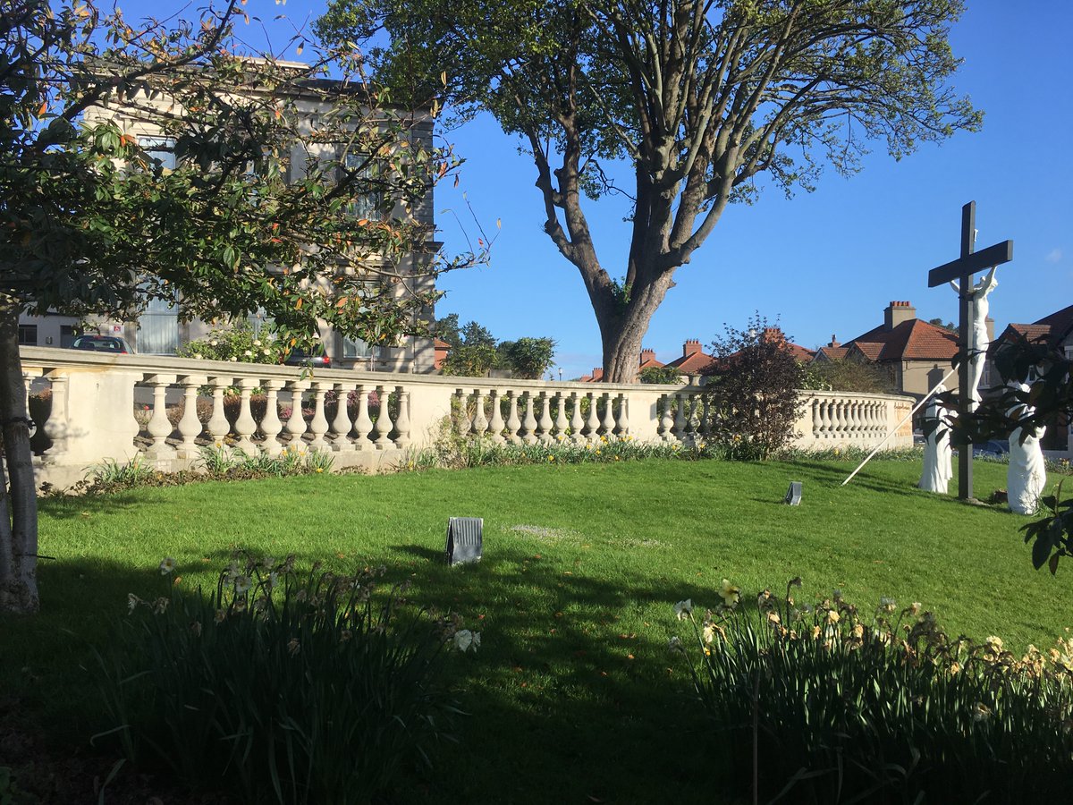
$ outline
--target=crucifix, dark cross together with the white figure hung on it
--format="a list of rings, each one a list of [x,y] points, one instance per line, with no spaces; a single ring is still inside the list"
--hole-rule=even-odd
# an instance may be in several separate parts
[[[928,272],[928,288],[951,282],[958,292],[958,353],[961,358],[958,367],[958,416],[965,416],[976,407],[975,387],[973,380],[980,382],[979,372],[973,377],[973,362],[982,365],[985,358],[983,352],[986,350],[986,338],[981,343],[980,339],[973,338],[973,331],[978,327],[986,327],[985,321],[974,322],[974,296],[986,298],[987,293],[994,288],[995,269],[1013,260],[1013,240],[1003,240],[1000,244],[988,246],[986,249],[973,251],[976,239],[976,203],[969,202],[961,207],[961,257],[932,268]],[[980,287],[972,284],[972,275],[975,272],[989,268],[987,280]],[[985,319],[982,314],[981,319]],[[984,331],[986,332],[986,331]],[[978,354],[979,353],[979,354]],[[961,450],[960,459],[957,463],[957,496],[961,500],[972,498],[972,443],[967,443]]]

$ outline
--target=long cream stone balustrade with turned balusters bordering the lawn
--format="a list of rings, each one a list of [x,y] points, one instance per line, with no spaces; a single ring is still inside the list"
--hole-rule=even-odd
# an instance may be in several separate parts
[[[46,348],[25,348],[23,367],[28,393],[50,387],[47,419],[31,413],[46,437],[34,440],[39,480],[57,486],[105,459],[142,456],[162,471],[195,467],[215,445],[269,455],[288,447],[329,451],[337,468],[377,471],[431,445],[444,427],[499,443],[630,436],[692,444],[705,438],[709,420],[697,385],[303,371]],[[795,428],[805,449],[874,447],[912,405],[878,394],[808,395]],[[911,445],[911,426],[888,443]]]

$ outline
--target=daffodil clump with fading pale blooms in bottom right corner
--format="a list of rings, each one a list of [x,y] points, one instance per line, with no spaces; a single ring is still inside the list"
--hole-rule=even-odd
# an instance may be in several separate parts
[[[794,580],[791,586],[799,585]],[[768,590],[694,625],[690,664],[730,766],[767,800],[1042,802],[1073,772],[1073,641],[1017,659],[998,638],[949,638],[920,604],[862,616],[836,590],[798,606]],[[686,652],[678,638],[672,646]]]

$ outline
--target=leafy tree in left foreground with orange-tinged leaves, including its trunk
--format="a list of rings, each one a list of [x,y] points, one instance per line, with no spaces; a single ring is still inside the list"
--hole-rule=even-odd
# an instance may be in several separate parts
[[[380,342],[436,296],[429,232],[397,205],[452,160],[346,64],[328,82],[237,56],[239,9],[167,25],[93,0],[0,9],[0,611],[39,605],[20,313],[130,317],[159,298]],[[112,113],[161,138],[139,144]]]

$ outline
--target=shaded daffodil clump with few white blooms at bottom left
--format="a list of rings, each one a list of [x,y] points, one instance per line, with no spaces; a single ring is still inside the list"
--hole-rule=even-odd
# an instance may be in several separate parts
[[[179,580],[155,601],[132,594],[98,655],[115,727],[97,737],[241,802],[368,802],[427,759],[454,712],[447,641],[479,642],[457,619],[402,614],[402,588],[374,591],[382,573],[237,557],[208,596]]]

